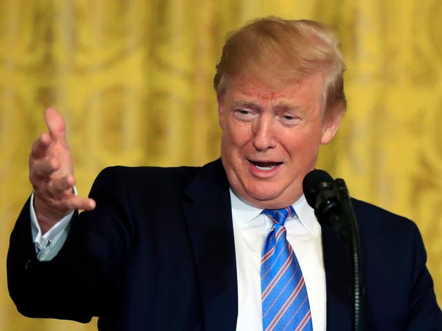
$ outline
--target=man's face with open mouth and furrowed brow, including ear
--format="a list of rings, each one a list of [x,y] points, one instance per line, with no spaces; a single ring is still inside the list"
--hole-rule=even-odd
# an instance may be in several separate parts
[[[229,183],[258,208],[283,208],[301,197],[320,144],[332,140],[340,121],[324,119],[320,74],[278,88],[256,77],[229,79],[218,115]]]

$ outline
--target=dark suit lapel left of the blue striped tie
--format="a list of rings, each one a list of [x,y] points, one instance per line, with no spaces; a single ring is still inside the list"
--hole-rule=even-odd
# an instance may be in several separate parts
[[[229,182],[220,159],[205,165],[186,189],[205,330],[235,330],[238,317],[235,243]]]

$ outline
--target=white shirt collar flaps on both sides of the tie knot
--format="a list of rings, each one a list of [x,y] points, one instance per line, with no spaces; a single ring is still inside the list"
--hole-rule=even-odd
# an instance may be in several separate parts
[[[250,205],[244,199],[233,192],[230,188],[230,200],[232,207],[232,216],[233,219],[236,220],[239,226],[246,225],[247,223],[256,219],[256,217],[260,216],[262,209],[256,208],[253,205]],[[300,197],[293,204],[293,208],[298,215],[298,219],[302,226],[306,228],[311,234],[316,234],[318,231],[320,232],[320,225],[316,216],[314,214],[313,208],[309,206],[307,200],[304,195]]]

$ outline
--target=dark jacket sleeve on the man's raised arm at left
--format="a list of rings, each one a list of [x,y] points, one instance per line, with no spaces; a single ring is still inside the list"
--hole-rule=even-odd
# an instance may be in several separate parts
[[[8,290],[21,314],[82,323],[99,315],[118,286],[131,246],[133,220],[123,177],[117,168],[99,174],[90,191],[97,208],[75,212],[66,243],[52,261],[36,258],[26,202],[10,236],[7,260]]]

